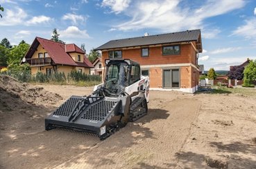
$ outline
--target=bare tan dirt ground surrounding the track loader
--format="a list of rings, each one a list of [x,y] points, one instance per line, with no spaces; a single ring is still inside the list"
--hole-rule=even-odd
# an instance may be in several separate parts
[[[0,78],[0,168],[256,168],[256,96],[151,91],[148,115],[104,141],[44,130],[92,89]]]

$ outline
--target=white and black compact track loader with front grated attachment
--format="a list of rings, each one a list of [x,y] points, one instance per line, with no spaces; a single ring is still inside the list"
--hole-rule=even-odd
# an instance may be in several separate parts
[[[106,59],[104,83],[89,96],[71,96],[45,119],[45,129],[89,132],[105,139],[148,111],[149,78],[130,59]]]

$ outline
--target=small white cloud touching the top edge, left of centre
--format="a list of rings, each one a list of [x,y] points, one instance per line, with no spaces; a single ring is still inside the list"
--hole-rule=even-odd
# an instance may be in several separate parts
[[[103,0],[102,7],[109,7],[112,12],[119,14],[123,10],[126,10],[130,4],[130,0]]]

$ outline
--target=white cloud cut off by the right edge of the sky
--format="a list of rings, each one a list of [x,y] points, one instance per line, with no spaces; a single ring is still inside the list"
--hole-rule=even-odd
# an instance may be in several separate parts
[[[233,31],[233,34],[243,36],[246,39],[254,39],[256,41],[256,18],[246,20],[243,26],[239,26]]]

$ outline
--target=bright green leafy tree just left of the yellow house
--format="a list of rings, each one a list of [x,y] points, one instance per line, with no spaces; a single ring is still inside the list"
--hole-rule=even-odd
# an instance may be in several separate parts
[[[19,43],[18,46],[14,46],[10,53],[8,54],[8,65],[19,65],[21,63],[22,58],[25,56],[26,52],[28,51],[30,45],[28,43]]]

